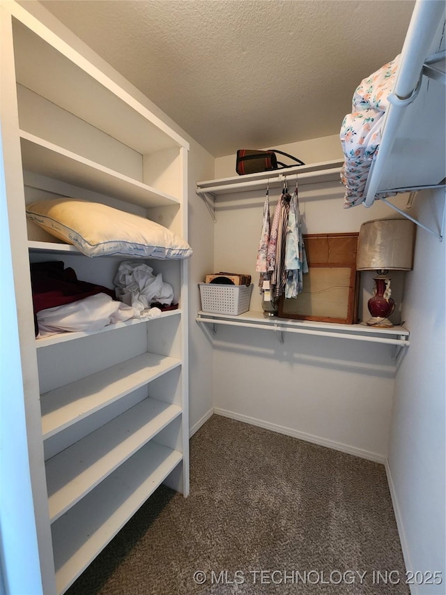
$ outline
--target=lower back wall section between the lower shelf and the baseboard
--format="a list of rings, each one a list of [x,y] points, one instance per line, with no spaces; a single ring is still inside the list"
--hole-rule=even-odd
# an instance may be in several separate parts
[[[393,378],[387,346],[217,326],[217,413],[379,462]]]

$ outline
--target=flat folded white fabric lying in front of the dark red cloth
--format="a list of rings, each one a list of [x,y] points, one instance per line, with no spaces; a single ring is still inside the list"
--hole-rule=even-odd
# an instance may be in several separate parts
[[[107,324],[134,317],[134,308],[107,294],[95,294],[72,303],[37,312],[38,338],[65,331],[100,331]]]

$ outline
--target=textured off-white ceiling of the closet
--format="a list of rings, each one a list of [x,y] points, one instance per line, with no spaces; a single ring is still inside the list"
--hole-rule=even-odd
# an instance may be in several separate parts
[[[214,156],[337,134],[411,0],[42,0]]]

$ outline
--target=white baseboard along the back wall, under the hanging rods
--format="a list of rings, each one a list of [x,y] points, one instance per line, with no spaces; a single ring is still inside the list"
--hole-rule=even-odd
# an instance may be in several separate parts
[[[237,421],[243,421],[245,423],[250,423],[251,425],[257,425],[259,428],[265,428],[266,430],[272,430],[272,432],[278,432],[279,434],[284,434],[286,436],[293,436],[300,440],[305,440],[306,442],[312,442],[312,444],[318,444],[319,446],[326,446],[328,449],[333,449],[335,451],[341,451],[343,453],[347,453],[349,455],[354,455],[356,457],[360,457],[367,460],[372,460],[374,462],[379,462],[382,465],[385,465],[387,461],[387,457],[384,455],[380,455],[378,453],[373,453],[369,451],[364,451],[362,449],[356,449],[355,446],[348,446],[348,444],[342,444],[341,442],[334,442],[334,440],[327,440],[325,438],[321,438],[319,436],[314,436],[312,434],[306,434],[305,432],[299,432],[298,430],[293,430],[292,428],[286,428],[284,425],[277,425],[275,423],[270,423],[269,421],[263,421],[261,419],[256,419],[255,417],[250,417],[247,415],[242,415],[238,413],[234,413],[232,411],[226,411],[226,409],[220,409],[219,407],[214,407],[214,413],[217,415],[222,415],[224,417],[229,417],[231,419],[236,419]]]

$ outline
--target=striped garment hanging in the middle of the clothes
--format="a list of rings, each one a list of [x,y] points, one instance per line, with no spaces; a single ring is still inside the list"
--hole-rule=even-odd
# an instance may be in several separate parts
[[[268,270],[271,271],[271,289],[272,296],[278,298],[285,289],[286,271],[285,271],[285,248],[286,248],[286,229],[288,227],[288,219],[290,212],[290,200],[288,190],[283,190],[279,202],[277,203],[272,221],[271,239],[268,246]],[[275,242],[272,243],[273,234],[275,235]],[[270,255],[271,251],[275,250],[274,258]]]

